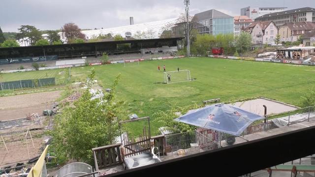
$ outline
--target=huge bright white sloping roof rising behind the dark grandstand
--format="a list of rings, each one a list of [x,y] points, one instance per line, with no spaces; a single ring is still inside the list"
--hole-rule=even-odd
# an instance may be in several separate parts
[[[111,33],[113,36],[116,34],[120,34],[123,37],[126,37],[126,32],[131,32],[131,37],[137,32],[151,32],[150,38],[159,38],[159,35],[163,32],[162,28],[165,27],[168,24],[175,24],[177,21],[177,18],[173,19],[166,19],[161,21],[155,21],[155,22],[148,22],[148,23],[141,23],[141,24],[134,24],[134,25],[128,25],[123,27],[115,27],[115,28],[108,28],[108,29],[94,29],[94,30],[83,30],[82,33],[84,33],[89,39],[93,36],[98,34],[108,34]],[[63,38],[63,35],[61,35]],[[65,38],[62,39],[65,41]]]

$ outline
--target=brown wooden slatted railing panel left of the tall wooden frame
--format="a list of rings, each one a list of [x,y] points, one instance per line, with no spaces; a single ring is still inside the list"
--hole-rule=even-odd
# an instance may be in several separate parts
[[[102,168],[112,167],[123,163],[121,156],[121,143],[99,148],[93,148],[95,169],[98,171]],[[118,157],[118,161],[116,158]]]

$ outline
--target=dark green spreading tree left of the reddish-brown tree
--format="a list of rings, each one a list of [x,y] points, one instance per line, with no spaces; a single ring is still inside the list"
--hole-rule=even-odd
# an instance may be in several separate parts
[[[27,46],[34,45],[39,39],[42,39],[41,32],[34,26],[22,25],[18,30],[17,39]]]

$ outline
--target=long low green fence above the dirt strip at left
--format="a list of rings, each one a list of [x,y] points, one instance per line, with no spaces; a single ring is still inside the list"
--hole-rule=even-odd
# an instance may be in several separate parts
[[[56,85],[55,78],[20,80],[20,81],[10,81],[10,82],[0,82],[0,90],[26,89],[26,88],[48,87],[48,86],[55,86],[55,85]]]

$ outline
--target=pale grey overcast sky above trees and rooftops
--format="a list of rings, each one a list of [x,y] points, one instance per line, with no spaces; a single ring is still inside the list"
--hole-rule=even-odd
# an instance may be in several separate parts
[[[176,18],[185,12],[184,0],[1,0],[2,31],[17,31],[21,25],[38,29],[60,29],[73,22],[81,29],[110,28],[134,23]],[[195,14],[217,9],[228,15],[240,15],[247,6],[288,9],[315,7],[315,0],[190,0],[190,12]]]

